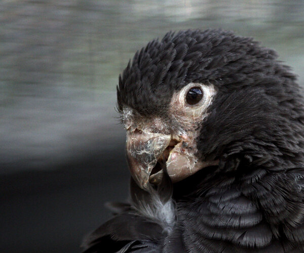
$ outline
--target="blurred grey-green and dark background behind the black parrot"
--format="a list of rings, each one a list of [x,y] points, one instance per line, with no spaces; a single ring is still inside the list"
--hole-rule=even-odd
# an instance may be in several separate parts
[[[304,1],[0,1],[0,252],[80,252],[128,197],[116,85],[169,30],[224,28],[304,83]]]

